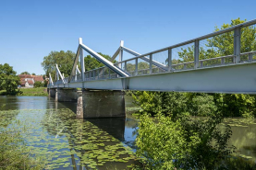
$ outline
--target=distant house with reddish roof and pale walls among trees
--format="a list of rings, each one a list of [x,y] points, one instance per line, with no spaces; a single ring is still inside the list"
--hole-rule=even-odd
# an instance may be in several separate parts
[[[21,87],[33,87],[34,83],[39,81],[43,84],[43,75],[19,74]]]

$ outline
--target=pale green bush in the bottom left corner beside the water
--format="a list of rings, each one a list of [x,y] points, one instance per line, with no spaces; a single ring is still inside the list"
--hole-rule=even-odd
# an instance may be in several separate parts
[[[17,110],[8,111],[8,114],[0,111],[0,169],[43,169],[43,160],[30,155],[30,148],[22,135],[28,127],[14,120],[17,115]]]

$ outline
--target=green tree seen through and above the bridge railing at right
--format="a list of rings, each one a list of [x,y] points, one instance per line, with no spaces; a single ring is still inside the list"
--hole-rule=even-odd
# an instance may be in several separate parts
[[[230,28],[238,24],[246,22],[237,19],[231,20],[231,24],[224,24],[221,28],[215,27],[214,31],[218,31],[225,28]],[[220,56],[232,55],[234,53],[234,32],[229,31],[212,38],[201,40],[200,45],[200,60],[211,59]],[[241,52],[256,51],[256,27],[250,26],[241,28]],[[182,48],[178,52],[179,59],[173,60],[173,63],[179,62],[193,62],[194,61],[194,46],[188,48]],[[241,60],[247,59],[248,56],[241,56]],[[213,65],[219,63],[218,60],[213,60],[204,63],[204,65]],[[232,59],[226,59],[226,62],[232,62]]]

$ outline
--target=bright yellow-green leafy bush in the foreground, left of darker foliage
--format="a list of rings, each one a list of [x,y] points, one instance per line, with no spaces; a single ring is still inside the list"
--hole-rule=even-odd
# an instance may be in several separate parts
[[[136,138],[137,156],[146,158],[145,164],[150,169],[173,169],[179,167],[190,153],[192,145],[199,139],[196,134],[185,139],[185,131],[180,122],[173,122],[169,117],[158,117],[155,123],[147,115],[140,117],[139,134]]]

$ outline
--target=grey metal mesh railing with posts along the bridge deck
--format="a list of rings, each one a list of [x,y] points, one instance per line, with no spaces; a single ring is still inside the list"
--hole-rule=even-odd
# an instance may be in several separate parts
[[[256,30],[256,19],[145,54],[132,52],[122,46],[122,50],[135,57],[114,65],[129,76],[140,76],[256,62],[256,49],[248,42],[247,37],[255,33],[250,30]],[[82,80],[81,74],[73,75],[71,82],[113,79],[119,76],[109,68],[101,67],[85,72],[84,77],[85,80]],[[61,82],[57,81],[58,83]]]

